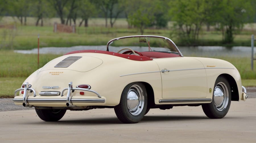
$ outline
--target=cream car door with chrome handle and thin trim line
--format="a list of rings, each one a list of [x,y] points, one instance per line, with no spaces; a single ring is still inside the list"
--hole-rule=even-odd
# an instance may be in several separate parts
[[[162,78],[162,98],[207,96],[207,77],[203,64],[192,57],[156,58]]]

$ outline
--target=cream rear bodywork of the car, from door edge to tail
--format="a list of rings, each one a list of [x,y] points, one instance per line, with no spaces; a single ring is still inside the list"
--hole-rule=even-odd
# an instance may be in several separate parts
[[[78,62],[79,60],[82,60],[82,58],[77,60],[67,68],[54,68],[57,63],[59,63],[65,57],[69,56],[82,56],[82,58],[85,56],[94,57],[99,58],[104,62],[100,64],[100,66],[98,66],[97,68],[93,68],[86,72],[73,70],[73,68],[71,68],[71,66],[88,66],[86,65],[86,63],[81,64],[80,62]],[[56,75],[52,73],[58,74]],[[155,97],[162,96],[161,75],[158,65],[153,60],[134,61],[126,58],[120,58],[117,56],[100,53],[75,53],[65,55],[62,56],[62,58],[57,58],[50,61],[42,69],[37,70],[32,75],[30,75],[24,81],[24,83],[28,82],[32,85],[31,88],[36,90],[36,97],[33,97],[32,93],[30,93],[28,97],[30,99],[39,97],[42,99],[48,99],[49,97],[47,96],[40,96],[39,92],[61,92],[64,88],[68,87],[69,82],[73,82],[73,87],[76,87],[79,84],[88,84],[91,86],[90,90],[94,90],[98,92],[101,96],[106,98],[104,105],[115,106],[119,104],[121,93],[125,86],[129,83],[138,81],[150,84],[154,88]],[[42,88],[42,86],[59,86],[59,88],[44,89]],[[64,92],[64,96],[56,96],[56,98],[66,99],[66,95],[67,90]],[[74,99],[76,96],[80,96],[79,91],[75,91],[71,95]],[[23,94],[20,93],[20,96],[16,96],[15,98],[22,98],[22,96]],[[84,99],[88,99],[88,97],[95,97],[95,99],[100,99],[93,93],[85,92]],[[50,105],[48,103],[33,103],[33,105],[55,106],[55,104],[51,103]],[[79,103],[79,105],[88,106],[91,105],[91,103]],[[95,105],[102,105],[102,103],[96,103]]]

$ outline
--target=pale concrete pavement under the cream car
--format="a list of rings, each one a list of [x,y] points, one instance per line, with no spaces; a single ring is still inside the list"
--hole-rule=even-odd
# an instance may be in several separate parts
[[[150,109],[136,124],[122,124],[113,109],[67,111],[44,122],[35,110],[0,112],[0,142],[256,142],[256,99],[232,101],[222,119],[201,106]]]

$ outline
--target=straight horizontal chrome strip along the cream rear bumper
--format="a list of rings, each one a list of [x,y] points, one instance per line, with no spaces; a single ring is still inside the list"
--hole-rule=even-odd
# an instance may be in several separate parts
[[[22,99],[13,99],[13,102],[22,102]],[[66,102],[66,99],[27,99],[27,102]],[[71,99],[71,102],[104,103],[105,99]]]

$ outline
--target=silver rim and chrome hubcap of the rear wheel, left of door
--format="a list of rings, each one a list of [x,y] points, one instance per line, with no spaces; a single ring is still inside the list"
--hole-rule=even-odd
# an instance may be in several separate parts
[[[137,116],[139,115],[144,107],[144,95],[143,90],[137,84],[130,87],[127,93],[127,107],[129,112]]]

